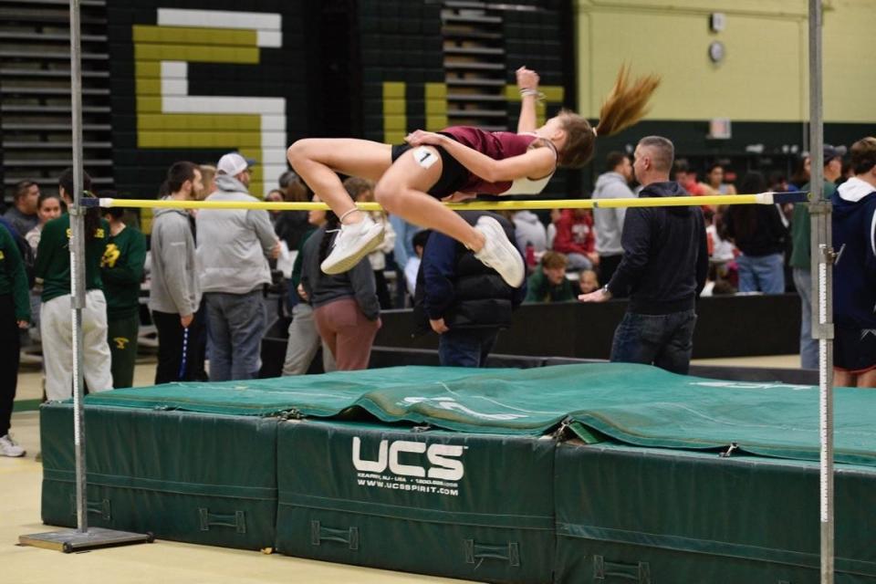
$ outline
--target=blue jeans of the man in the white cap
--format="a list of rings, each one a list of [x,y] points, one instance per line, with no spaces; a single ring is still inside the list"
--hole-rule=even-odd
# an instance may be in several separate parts
[[[261,369],[267,315],[259,287],[247,294],[208,292],[210,381],[252,380]]]

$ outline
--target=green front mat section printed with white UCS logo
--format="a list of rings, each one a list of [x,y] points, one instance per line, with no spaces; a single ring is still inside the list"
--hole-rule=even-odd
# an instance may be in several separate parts
[[[281,422],[277,551],[452,578],[550,582],[555,444]]]

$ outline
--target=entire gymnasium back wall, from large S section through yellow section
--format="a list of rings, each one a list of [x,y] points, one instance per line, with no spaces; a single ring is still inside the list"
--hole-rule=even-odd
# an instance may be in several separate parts
[[[496,128],[516,127],[514,69],[542,74],[541,119],[560,107],[596,118],[624,62],[657,72],[663,85],[648,120],[598,141],[584,172],[558,173],[552,196],[588,193],[610,150],[646,133],[675,141],[702,170],[713,160],[736,172],[790,174],[807,149],[805,0],[517,0],[487,5],[500,16],[501,56],[485,99],[468,102],[453,79],[447,5],[427,0],[109,0],[112,178],[122,196],[151,197],[177,160],[215,162],[240,150],[258,160],[252,192],[275,186],[285,149],[305,136],[400,142],[407,131],[473,123],[504,99]],[[444,11],[444,16],[443,16]],[[725,30],[709,15],[723,12]],[[825,2],[825,139],[849,144],[872,133],[876,78],[859,70],[876,3]],[[710,61],[710,43],[725,59]],[[453,46],[448,49],[449,46]],[[455,48],[454,48],[455,47]],[[477,91],[475,91],[477,92]],[[492,92],[492,93],[491,93]],[[471,97],[471,96],[468,96]],[[477,99],[477,98],[474,98]],[[469,118],[467,113],[471,111]],[[495,112],[494,112],[495,113]],[[709,138],[708,120],[732,120],[732,137]]]

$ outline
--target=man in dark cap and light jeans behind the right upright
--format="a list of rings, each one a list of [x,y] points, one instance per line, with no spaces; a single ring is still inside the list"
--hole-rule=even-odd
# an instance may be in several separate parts
[[[824,145],[824,198],[828,201],[837,191],[836,180],[842,172],[842,151],[830,144]],[[810,156],[806,161],[806,168],[811,168],[811,164]],[[800,190],[808,191],[809,187],[809,183],[806,183]],[[800,367],[803,369],[819,369],[819,341],[812,339],[812,273],[809,269],[811,233],[808,203],[797,203],[791,217],[792,248],[787,263],[793,270],[794,287],[800,296]]]

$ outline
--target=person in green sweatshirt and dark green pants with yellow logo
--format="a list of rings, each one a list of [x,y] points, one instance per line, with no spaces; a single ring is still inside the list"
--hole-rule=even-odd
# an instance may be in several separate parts
[[[101,196],[114,196],[103,193]],[[107,297],[107,337],[112,355],[112,387],[130,387],[137,360],[140,331],[140,283],[146,263],[146,237],[122,220],[124,209],[107,209],[110,237],[100,259],[100,276]]]

